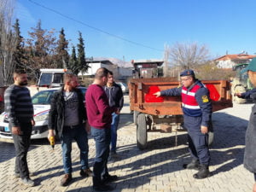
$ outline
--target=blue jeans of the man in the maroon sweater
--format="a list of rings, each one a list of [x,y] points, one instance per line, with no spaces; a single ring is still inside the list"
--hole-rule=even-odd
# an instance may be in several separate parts
[[[90,127],[91,136],[94,137],[96,145],[96,157],[93,166],[93,184],[97,185],[97,182],[102,181],[103,176],[108,175],[108,156],[109,156],[109,144],[111,139],[111,129],[96,129]]]

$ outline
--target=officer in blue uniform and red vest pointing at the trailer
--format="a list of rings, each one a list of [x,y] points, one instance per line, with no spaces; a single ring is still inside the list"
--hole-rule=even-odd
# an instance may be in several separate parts
[[[200,80],[195,79],[193,70],[184,70],[181,74],[181,87],[161,90],[155,96],[182,96],[184,127],[188,130],[189,152],[192,161],[184,164],[185,169],[199,170],[193,177],[210,176],[210,153],[208,148],[208,127],[211,123],[212,104],[209,91]]]

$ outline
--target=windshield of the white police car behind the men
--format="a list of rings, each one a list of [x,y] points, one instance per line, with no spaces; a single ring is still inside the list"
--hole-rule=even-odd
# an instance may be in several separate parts
[[[86,88],[79,88],[83,95],[86,92]],[[36,95],[32,96],[32,104],[33,105],[49,105],[50,100],[55,93],[56,90],[42,90],[39,91]]]

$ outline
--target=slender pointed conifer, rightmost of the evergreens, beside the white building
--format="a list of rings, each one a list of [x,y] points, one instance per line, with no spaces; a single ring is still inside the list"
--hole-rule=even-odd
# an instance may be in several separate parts
[[[84,52],[84,39],[82,38],[82,33],[79,32],[79,44],[78,44],[78,67],[79,72],[86,73],[88,70],[88,64],[85,61],[85,52]],[[78,73],[76,73],[78,74]]]

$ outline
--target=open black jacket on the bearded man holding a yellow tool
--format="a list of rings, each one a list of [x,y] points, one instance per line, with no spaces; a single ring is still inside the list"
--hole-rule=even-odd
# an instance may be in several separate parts
[[[85,108],[84,108],[84,96],[81,90],[74,90],[79,97],[79,124],[83,124],[87,119]],[[49,130],[55,130],[59,137],[62,135],[65,117],[65,101],[63,96],[63,87],[57,90],[53,95],[50,102],[49,109]]]

